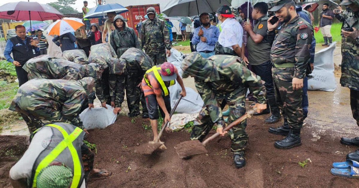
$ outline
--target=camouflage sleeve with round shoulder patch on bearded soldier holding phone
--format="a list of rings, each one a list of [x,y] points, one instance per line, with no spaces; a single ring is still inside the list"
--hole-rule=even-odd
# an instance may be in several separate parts
[[[303,78],[306,75],[307,66],[311,58],[309,47],[312,43],[313,28],[306,23],[298,25],[297,44],[295,45],[294,77]]]

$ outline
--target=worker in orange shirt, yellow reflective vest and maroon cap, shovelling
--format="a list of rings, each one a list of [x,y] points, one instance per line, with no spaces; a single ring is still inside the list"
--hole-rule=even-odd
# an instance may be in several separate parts
[[[151,69],[146,71],[144,78],[142,79],[141,87],[145,94],[146,107],[150,117],[154,141],[158,136],[158,106],[163,117],[162,126],[166,121],[170,121],[169,112],[171,112],[171,101],[168,87],[174,85],[175,79],[182,88],[180,95],[185,97],[186,89],[183,85],[182,78],[178,74],[177,68],[173,66],[172,63],[164,62],[163,64],[153,66]],[[169,128],[167,127],[166,130],[168,131]]]

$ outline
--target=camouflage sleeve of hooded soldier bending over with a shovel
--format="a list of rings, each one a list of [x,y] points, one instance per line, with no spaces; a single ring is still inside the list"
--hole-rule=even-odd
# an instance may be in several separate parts
[[[240,63],[233,63],[230,66],[225,67],[223,71],[227,72],[226,75],[228,75],[233,83],[243,83],[244,87],[248,88],[253,93],[253,96],[258,100],[258,103],[266,103],[266,88],[261,77],[257,76]],[[228,74],[228,72],[232,74]]]

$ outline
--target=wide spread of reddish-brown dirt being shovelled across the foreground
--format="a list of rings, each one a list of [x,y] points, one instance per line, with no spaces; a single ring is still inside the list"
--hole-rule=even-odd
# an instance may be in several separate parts
[[[149,121],[138,118],[132,123],[129,117],[120,116],[106,129],[90,131],[87,140],[97,144],[98,151],[95,168],[108,169],[113,175],[107,179],[90,179],[88,187],[359,187],[355,179],[330,173],[332,163],[344,161],[345,155],[355,147],[341,145],[329,132],[314,142],[311,130],[303,127],[302,146],[290,150],[275,149],[274,141],[283,136],[268,132],[271,125],[263,123],[265,117],[248,120],[247,164],[236,169],[227,136],[209,143],[206,146],[208,154],[189,160],[179,158],[173,148],[189,139],[190,133],[186,131],[164,132],[161,140],[167,150],[152,155],[134,153],[139,144],[152,140],[151,131],[142,126],[149,125]],[[214,133],[212,130],[210,135]],[[300,167],[298,162],[305,160],[307,164]]]

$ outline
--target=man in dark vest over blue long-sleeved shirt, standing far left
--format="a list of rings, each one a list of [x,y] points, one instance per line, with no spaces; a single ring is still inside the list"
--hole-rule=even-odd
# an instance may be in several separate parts
[[[19,86],[23,85],[29,79],[27,72],[22,66],[31,58],[36,57],[40,53],[36,41],[26,36],[26,30],[23,25],[15,26],[16,37],[11,37],[6,42],[4,56],[6,61],[15,65],[16,75],[19,80]],[[10,56],[13,53],[13,58]]]

